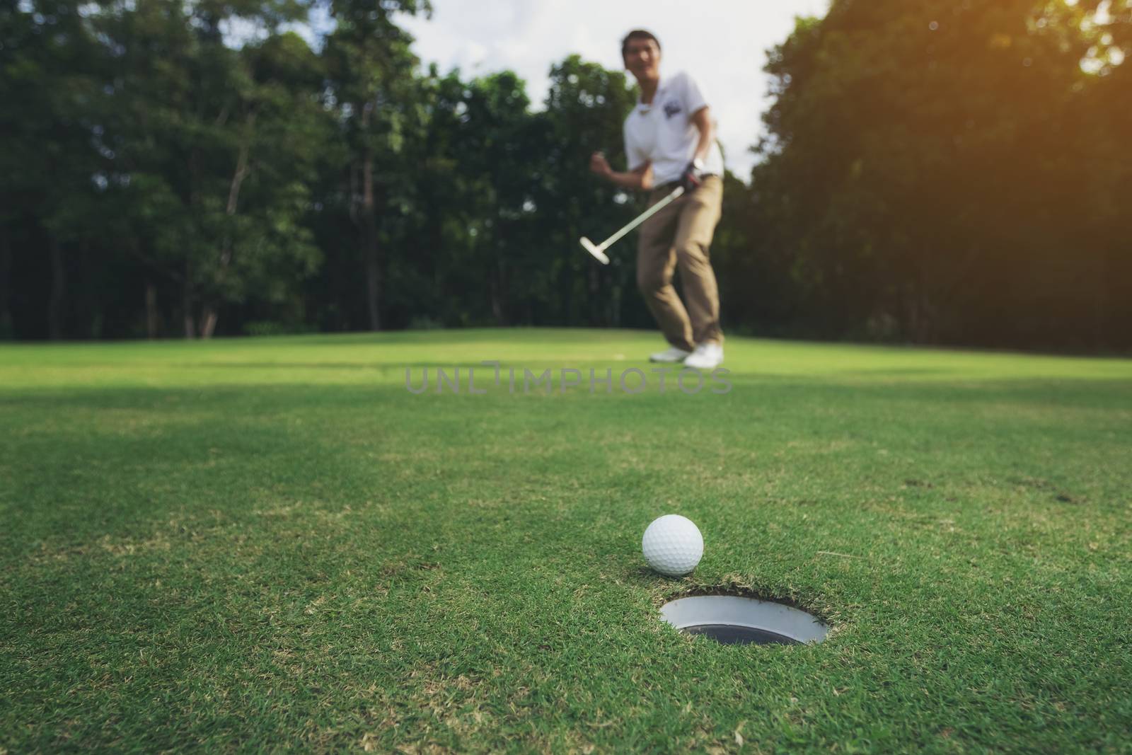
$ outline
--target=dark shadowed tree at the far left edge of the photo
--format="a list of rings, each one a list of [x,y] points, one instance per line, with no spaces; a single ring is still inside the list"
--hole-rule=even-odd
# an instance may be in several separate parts
[[[85,242],[83,229],[97,214],[93,178],[103,158],[89,146],[89,114],[105,60],[79,8],[67,0],[0,3],[0,101],[11,103],[0,108],[0,334],[15,327],[9,276],[34,265],[31,252],[42,246],[48,285],[34,286],[34,295],[45,300],[46,335],[65,335],[68,251]]]

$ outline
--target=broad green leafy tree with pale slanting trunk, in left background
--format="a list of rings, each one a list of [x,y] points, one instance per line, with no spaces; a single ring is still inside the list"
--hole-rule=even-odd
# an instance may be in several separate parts
[[[278,298],[317,264],[300,220],[320,110],[317,59],[293,34],[234,49],[233,19],[274,28],[294,3],[112,6],[92,24],[114,58],[105,83],[105,183],[125,250],[179,289],[183,333],[213,335],[249,291]],[[241,205],[255,192],[257,201]]]

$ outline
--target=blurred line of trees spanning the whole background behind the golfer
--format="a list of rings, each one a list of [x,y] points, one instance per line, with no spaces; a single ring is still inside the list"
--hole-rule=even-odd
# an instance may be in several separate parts
[[[397,20],[428,12],[0,0],[0,337],[651,327],[632,242],[577,246],[643,208],[588,172],[624,164],[625,75],[568,57],[534,108],[513,72],[422,69]],[[726,177],[724,327],[1132,345],[1130,29],[1124,0],[798,19]]]

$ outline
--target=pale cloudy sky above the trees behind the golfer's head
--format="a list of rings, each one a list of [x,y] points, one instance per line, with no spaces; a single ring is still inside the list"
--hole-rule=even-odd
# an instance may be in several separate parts
[[[403,18],[421,61],[464,77],[514,70],[535,106],[550,66],[571,53],[621,70],[620,40],[657,35],[661,76],[686,71],[719,123],[728,168],[746,179],[767,108],[766,50],[789,36],[796,16],[823,16],[827,0],[432,0],[432,17]],[[615,145],[594,145],[612,149]],[[617,168],[617,166],[615,166]]]

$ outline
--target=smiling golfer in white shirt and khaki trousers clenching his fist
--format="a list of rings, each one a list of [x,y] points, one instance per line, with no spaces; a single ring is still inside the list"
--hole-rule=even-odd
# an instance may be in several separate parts
[[[714,369],[723,361],[723,332],[709,249],[723,199],[723,154],[711,111],[686,74],[661,78],[660,42],[649,32],[629,32],[621,58],[641,87],[625,120],[629,170],[615,172],[600,152],[590,170],[619,187],[651,190],[650,206],[684,187],[679,199],[641,226],[637,286],[669,343],[650,359]],[[687,308],[672,286],[677,266]]]

